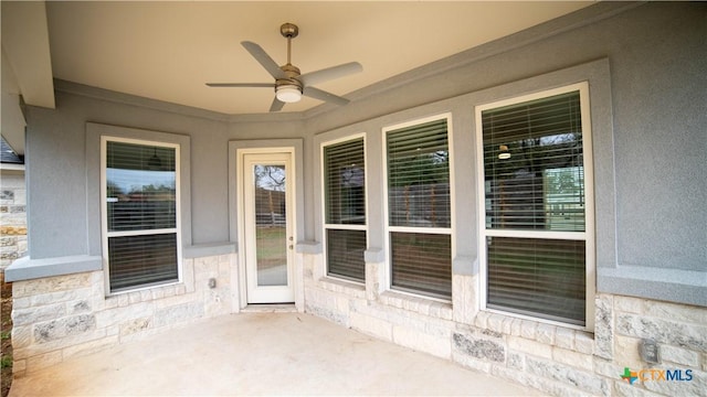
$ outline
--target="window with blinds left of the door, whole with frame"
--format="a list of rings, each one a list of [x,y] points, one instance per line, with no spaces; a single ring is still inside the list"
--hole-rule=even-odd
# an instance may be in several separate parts
[[[179,281],[179,146],[103,137],[102,153],[109,291]]]

